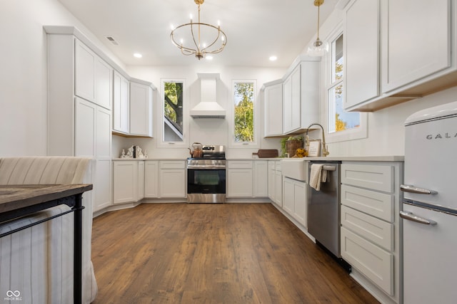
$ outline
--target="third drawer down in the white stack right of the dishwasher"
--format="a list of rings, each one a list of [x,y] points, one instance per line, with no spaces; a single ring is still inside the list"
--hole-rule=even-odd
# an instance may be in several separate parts
[[[341,226],[351,229],[359,236],[363,236],[387,251],[393,251],[393,224],[341,206]]]

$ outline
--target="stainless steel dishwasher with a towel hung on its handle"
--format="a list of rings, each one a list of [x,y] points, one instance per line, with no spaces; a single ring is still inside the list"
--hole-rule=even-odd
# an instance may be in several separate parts
[[[333,253],[340,254],[340,166],[341,162],[309,163],[308,177],[313,164],[323,164],[326,170],[326,182],[321,183],[320,191],[308,187],[308,232],[316,243]]]

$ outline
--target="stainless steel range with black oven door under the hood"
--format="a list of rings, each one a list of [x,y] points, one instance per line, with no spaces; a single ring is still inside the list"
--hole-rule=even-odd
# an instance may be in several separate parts
[[[225,203],[226,153],[224,146],[203,146],[203,156],[187,159],[187,202]]]

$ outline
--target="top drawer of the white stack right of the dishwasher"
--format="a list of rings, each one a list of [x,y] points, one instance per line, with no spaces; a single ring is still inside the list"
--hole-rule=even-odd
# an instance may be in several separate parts
[[[393,191],[393,166],[376,164],[341,164],[341,184],[383,191]]]

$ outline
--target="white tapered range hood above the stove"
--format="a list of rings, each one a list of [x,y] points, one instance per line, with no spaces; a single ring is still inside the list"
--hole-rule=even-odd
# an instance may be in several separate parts
[[[226,110],[217,103],[217,73],[198,73],[200,79],[200,103],[191,109],[194,118],[225,118]]]

